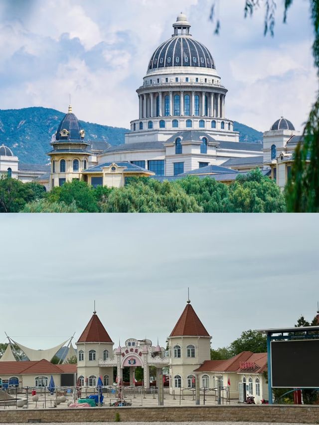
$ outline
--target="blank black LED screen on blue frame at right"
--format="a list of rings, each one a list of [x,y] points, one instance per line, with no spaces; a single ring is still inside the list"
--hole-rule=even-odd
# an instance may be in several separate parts
[[[272,387],[319,388],[319,339],[271,343]]]

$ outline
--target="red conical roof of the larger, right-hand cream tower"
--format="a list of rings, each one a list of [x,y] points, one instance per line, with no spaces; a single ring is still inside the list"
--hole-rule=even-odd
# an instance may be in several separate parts
[[[210,336],[193,307],[188,303],[169,336]]]

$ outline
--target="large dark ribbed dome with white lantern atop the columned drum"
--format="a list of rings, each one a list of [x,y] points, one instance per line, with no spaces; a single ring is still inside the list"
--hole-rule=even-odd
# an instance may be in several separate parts
[[[177,16],[173,24],[174,34],[164,41],[153,53],[149,70],[169,66],[195,66],[215,69],[215,63],[207,47],[194,40],[189,34],[190,24],[186,16]]]

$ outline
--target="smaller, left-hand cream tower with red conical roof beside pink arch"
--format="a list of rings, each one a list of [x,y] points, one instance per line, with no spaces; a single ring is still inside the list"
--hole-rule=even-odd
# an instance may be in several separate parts
[[[95,387],[99,376],[103,385],[113,384],[113,366],[100,366],[101,361],[113,358],[113,341],[96,311],[78,339],[78,380],[81,385]]]

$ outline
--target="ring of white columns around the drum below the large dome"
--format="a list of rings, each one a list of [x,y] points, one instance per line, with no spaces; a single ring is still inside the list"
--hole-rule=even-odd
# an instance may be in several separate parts
[[[178,110],[179,114],[174,111],[174,96],[179,96]],[[189,114],[185,113],[185,96],[189,96]],[[165,96],[169,97],[168,110],[165,108]],[[199,97],[199,105],[195,110],[195,96]],[[139,95],[139,119],[169,117],[169,116],[200,116],[212,118],[225,117],[225,94],[197,91],[163,91],[156,93],[144,93]],[[207,101],[205,101],[207,98]],[[207,103],[207,105],[205,105]],[[188,109],[188,107],[187,107]],[[164,112],[164,113],[163,113]],[[207,113],[206,113],[207,112]]]

